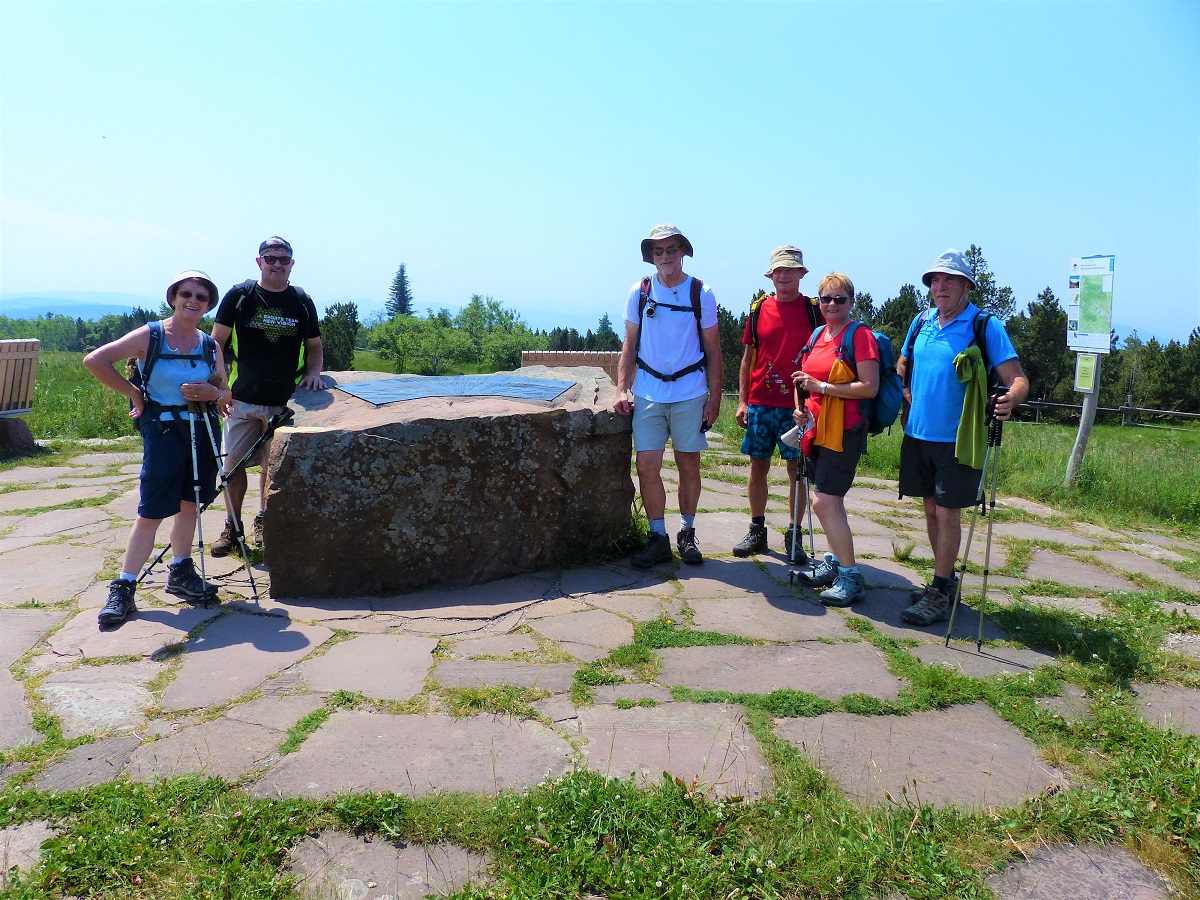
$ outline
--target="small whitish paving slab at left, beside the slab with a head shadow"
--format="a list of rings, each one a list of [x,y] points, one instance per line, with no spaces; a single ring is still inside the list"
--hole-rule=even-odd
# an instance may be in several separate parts
[[[154,662],[83,666],[49,676],[37,689],[68,740],[107,728],[136,728],[154,703],[145,685],[163,667]]]

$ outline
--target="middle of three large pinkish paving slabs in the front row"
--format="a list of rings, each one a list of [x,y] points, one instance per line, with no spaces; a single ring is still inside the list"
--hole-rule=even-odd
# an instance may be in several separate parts
[[[588,768],[602,775],[636,775],[642,785],[653,785],[668,772],[689,785],[695,781],[703,793],[749,799],[772,786],[770,769],[740,707],[590,707],[578,710],[576,725],[587,740]]]

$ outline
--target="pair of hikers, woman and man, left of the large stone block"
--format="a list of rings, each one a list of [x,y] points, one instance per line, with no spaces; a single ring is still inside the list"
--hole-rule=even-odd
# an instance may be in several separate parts
[[[228,517],[210,552],[245,557],[246,466],[262,466],[253,520],[253,540],[262,545],[265,462],[274,426],[296,386],[319,390],[324,383],[317,310],[302,288],[289,283],[292,245],[268,238],[256,262],[259,277],[224,295],[211,337],[199,330],[199,322],[216,305],[217,287],[203,271],[188,269],[167,288],[169,318],[143,325],[84,358],[84,366],[101,384],[130,398],[130,418],[142,434],[137,518],[121,572],[110,582],[97,617],[101,628],[120,625],[136,611],[138,572],[150,558],[158,526],[170,516],[173,558],[167,592],[190,600],[215,595],[215,586],[204,578],[198,512],[223,491]],[[115,365],[125,360],[136,364],[122,374]],[[224,420],[223,430],[220,421],[214,425],[217,414]],[[218,467],[222,443],[224,464]],[[199,572],[192,560],[193,538],[199,545]],[[148,572],[149,568],[140,577]]]

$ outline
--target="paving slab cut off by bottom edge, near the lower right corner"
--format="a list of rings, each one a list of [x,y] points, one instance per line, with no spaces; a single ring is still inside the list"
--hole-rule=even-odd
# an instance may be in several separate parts
[[[997,900],[1168,900],[1169,882],[1124,847],[1063,845],[984,878]]]

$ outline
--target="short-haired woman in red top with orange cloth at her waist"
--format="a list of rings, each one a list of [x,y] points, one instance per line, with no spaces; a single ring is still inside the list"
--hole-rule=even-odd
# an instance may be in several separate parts
[[[812,472],[812,511],[821,520],[829,545],[824,559],[812,572],[800,572],[803,582],[821,592],[826,606],[850,606],[866,594],[863,575],[854,563],[854,539],[846,518],[846,492],[854,481],[858,457],[866,449],[866,426],[859,401],[870,400],[880,389],[880,347],[869,328],[850,318],[854,284],[840,272],[821,280],[817,290],[826,326],[812,337],[812,349],[800,359],[800,371],[792,373],[796,385],[796,421],[811,424],[802,446]],[[854,329],[853,362],[844,359],[846,329]],[[800,391],[808,394],[800,406]],[[803,410],[803,412],[802,412]]]

